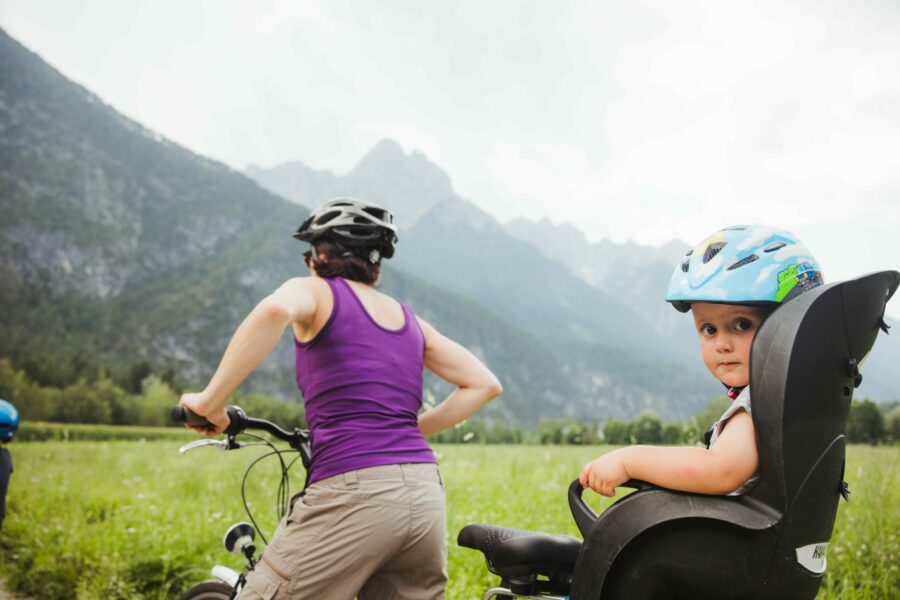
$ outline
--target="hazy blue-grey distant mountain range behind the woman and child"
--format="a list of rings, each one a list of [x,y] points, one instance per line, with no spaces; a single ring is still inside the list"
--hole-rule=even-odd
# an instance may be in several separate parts
[[[381,165],[379,173],[389,183],[377,181],[369,192],[360,188],[357,170],[363,165],[365,171]],[[297,162],[255,167],[248,174],[263,186],[272,185],[272,191],[309,204],[360,195],[400,215],[418,199],[428,210],[401,225],[393,262],[542,340],[579,390],[575,414],[633,416],[652,408],[666,417],[690,415],[720,391],[695,351],[692,320],[662,298],[686,243],[672,240],[659,248],[609,240],[591,244],[569,224],[516,220],[501,225],[448,192],[449,187],[435,194],[433,185],[424,184],[416,192],[415,181],[439,180],[437,169],[422,155],[404,155],[398,144],[383,141],[346,175],[327,173],[327,186],[310,183],[322,181],[323,172]],[[284,185],[287,181],[292,187]],[[404,190],[397,200],[390,195],[396,182],[403,182],[397,187]],[[311,195],[291,195],[299,190]],[[898,341],[896,336],[877,341],[862,396],[900,398],[888,366],[900,361]]]

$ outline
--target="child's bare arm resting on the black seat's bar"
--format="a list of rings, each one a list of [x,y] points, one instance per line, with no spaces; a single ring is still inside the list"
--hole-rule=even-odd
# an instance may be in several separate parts
[[[613,496],[628,479],[685,492],[727,494],[753,476],[758,462],[753,420],[740,410],[712,448],[620,448],[586,464],[579,480],[604,496]]]

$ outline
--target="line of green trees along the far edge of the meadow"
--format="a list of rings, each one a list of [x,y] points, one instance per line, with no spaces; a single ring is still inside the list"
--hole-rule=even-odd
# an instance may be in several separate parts
[[[0,398],[15,404],[25,421],[166,426],[171,425],[169,410],[178,403],[181,392],[171,370],[155,372],[146,361],[135,363],[119,376],[102,369],[79,371],[78,365],[56,371],[28,367],[19,369],[9,359],[0,359]],[[240,393],[232,402],[248,414],[287,427],[306,425],[300,403]],[[470,419],[433,434],[429,440],[447,444],[697,444],[729,402],[724,396],[714,398],[698,415],[677,423],[663,423],[652,411],[630,421],[599,423],[566,417],[543,420],[532,428]],[[847,421],[847,439],[858,444],[897,443],[900,404],[854,401]]]

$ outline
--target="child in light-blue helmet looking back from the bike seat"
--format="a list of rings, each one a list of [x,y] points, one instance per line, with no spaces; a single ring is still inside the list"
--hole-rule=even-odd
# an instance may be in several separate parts
[[[749,489],[759,460],[750,417],[750,345],[779,304],[821,284],[806,247],[771,227],[727,227],[689,251],[675,267],[666,300],[692,312],[703,363],[728,388],[731,406],[713,426],[708,448],[620,448],[586,464],[581,485],[604,496],[629,479],[701,494]]]

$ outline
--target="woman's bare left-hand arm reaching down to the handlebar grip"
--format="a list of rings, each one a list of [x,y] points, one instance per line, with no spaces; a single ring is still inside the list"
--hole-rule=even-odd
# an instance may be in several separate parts
[[[311,278],[298,277],[263,298],[234,332],[206,389],[181,397],[180,404],[216,426],[214,431],[204,433],[217,435],[228,426],[228,398],[272,352],[285,327],[312,321],[316,312],[313,285]]]

